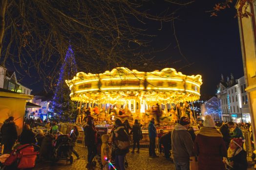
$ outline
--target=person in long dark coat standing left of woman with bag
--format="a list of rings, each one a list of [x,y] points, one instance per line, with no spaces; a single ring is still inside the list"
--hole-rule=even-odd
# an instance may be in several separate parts
[[[84,127],[85,132],[85,146],[87,146],[88,155],[87,160],[88,163],[86,165],[86,168],[92,169],[92,160],[95,157],[97,153],[97,147],[96,147],[96,130],[94,126],[93,117],[88,115],[87,122]]]

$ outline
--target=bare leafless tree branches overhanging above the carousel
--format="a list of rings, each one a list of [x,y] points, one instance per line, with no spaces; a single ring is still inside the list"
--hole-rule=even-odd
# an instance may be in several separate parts
[[[150,52],[156,51],[150,48],[155,35],[149,34],[146,23],[158,22],[161,29],[163,22],[176,18],[177,9],[191,2],[0,0],[1,61],[3,64],[11,61],[28,75],[37,72],[38,79],[45,80],[45,85],[54,84],[69,44],[75,51],[80,70],[86,72],[120,66],[162,67],[169,61],[155,63],[148,57]],[[161,13],[155,14],[146,7],[154,3],[168,5],[162,5]]]

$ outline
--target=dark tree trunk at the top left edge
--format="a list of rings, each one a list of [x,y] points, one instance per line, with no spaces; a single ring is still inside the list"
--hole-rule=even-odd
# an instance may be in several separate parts
[[[4,33],[4,15],[7,5],[7,0],[0,0],[0,56],[2,50],[2,38]]]

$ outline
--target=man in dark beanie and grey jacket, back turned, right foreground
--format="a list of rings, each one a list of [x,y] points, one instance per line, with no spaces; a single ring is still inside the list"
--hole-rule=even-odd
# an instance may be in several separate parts
[[[171,149],[176,170],[189,170],[190,158],[194,157],[192,137],[188,132],[190,119],[181,117],[171,133]]]

